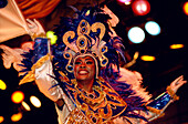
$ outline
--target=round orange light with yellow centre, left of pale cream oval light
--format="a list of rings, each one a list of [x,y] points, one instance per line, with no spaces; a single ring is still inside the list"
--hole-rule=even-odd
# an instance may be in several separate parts
[[[23,101],[23,99],[24,99],[24,94],[21,91],[15,91],[11,95],[11,100],[14,103],[21,103]]]

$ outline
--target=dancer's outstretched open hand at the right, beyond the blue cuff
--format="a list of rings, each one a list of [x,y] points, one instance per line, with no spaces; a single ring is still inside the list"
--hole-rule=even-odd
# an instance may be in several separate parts
[[[177,78],[175,81],[171,82],[170,89],[176,93],[180,86],[182,86],[187,81],[184,81],[184,75]]]

